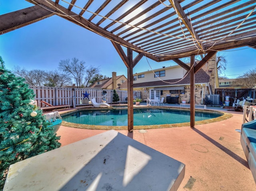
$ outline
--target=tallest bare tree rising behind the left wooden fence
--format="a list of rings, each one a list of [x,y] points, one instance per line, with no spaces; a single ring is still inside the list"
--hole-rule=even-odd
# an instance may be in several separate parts
[[[77,58],[61,60],[59,63],[59,69],[64,71],[66,74],[71,75],[71,77],[76,81],[76,86],[81,87],[83,75],[85,73],[85,62],[79,61]]]

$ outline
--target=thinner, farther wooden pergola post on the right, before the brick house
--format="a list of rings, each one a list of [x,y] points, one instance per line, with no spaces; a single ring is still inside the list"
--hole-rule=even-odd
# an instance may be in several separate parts
[[[190,127],[195,127],[195,55],[190,56]]]

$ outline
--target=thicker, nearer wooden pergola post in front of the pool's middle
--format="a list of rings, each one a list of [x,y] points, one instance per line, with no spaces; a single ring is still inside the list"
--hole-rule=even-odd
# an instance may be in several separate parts
[[[128,64],[127,78],[128,78],[128,132],[133,131],[133,61],[132,61],[132,49],[127,48]]]

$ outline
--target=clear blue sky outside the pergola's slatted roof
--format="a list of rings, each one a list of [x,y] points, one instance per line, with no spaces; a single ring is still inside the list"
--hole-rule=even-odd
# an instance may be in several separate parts
[[[0,0],[0,15],[33,6],[25,0]],[[256,49],[240,47],[222,51],[228,63],[226,77],[232,79],[256,68]],[[85,61],[86,66],[99,67],[107,77],[115,71],[127,77],[127,68],[110,40],[73,24],[59,16],[52,16],[34,24],[0,35],[0,56],[7,69],[14,66],[26,70],[55,70],[61,60],[73,57]],[[173,61],[157,63],[143,57],[134,73],[176,65]]]

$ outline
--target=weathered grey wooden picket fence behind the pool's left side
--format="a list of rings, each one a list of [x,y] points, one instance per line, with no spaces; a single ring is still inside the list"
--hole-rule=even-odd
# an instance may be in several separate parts
[[[42,107],[40,100],[48,102],[53,106],[58,105],[70,105],[82,106],[84,103],[81,100],[88,99],[84,98],[83,93],[88,93],[89,98],[95,98],[98,103],[105,100],[107,103],[112,103],[114,90],[109,89],[92,89],[92,88],[64,88],[64,87],[38,87],[30,86],[30,89],[34,91],[35,100],[38,103],[38,107]],[[120,101],[118,103],[127,102],[127,91],[116,90]],[[133,92],[134,98],[141,98],[140,91]]]

